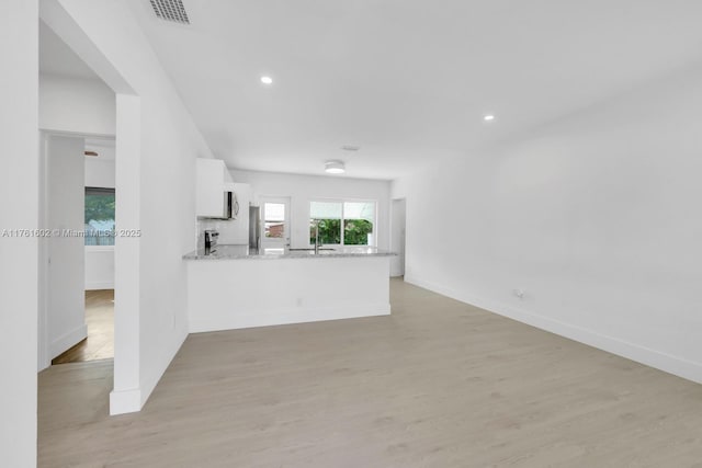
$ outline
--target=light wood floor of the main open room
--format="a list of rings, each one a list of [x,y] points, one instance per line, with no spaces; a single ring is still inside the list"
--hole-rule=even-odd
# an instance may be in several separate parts
[[[39,375],[41,467],[702,467],[702,386],[401,282],[390,317],[191,335],[140,413]]]

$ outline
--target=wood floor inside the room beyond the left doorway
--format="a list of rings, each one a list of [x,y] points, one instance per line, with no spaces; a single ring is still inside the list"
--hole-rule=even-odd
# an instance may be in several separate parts
[[[88,338],[52,359],[52,365],[114,357],[114,289],[86,292]]]

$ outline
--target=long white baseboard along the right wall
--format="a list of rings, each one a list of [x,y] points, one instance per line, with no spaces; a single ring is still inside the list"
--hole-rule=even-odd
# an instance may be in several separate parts
[[[508,317],[510,319],[520,321],[522,323],[528,323],[532,327],[550,331],[552,333],[568,338],[589,346],[597,347],[599,350],[603,350],[622,357],[626,357],[627,359],[636,361],[637,363],[645,364],[659,370],[664,370],[668,374],[672,374],[678,377],[702,384],[701,363],[688,361],[686,358],[673,356],[661,351],[652,350],[649,347],[642,346],[636,343],[631,343],[615,336],[609,336],[592,330],[587,330],[577,326],[561,322],[558,320],[553,320],[539,313],[529,312],[516,307],[500,304],[499,301],[472,297],[462,290],[446,288],[442,285],[424,281],[420,277],[417,277],[416,275],[406,275],[405,282],[419,287],[423,287],[424,289],[433,290],[434,293],[451,297],[452,299],[479,307],[499,316]]]

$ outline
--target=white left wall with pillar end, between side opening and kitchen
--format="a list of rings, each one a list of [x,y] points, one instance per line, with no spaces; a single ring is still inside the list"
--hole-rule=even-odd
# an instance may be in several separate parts
[[[42,8],[49,27],[117,91],[116,216],[140,237],[116,239],[111,411],[135,411],[188,334],[181,256],[195,248],[195,158],[212,153],[126,2]]]

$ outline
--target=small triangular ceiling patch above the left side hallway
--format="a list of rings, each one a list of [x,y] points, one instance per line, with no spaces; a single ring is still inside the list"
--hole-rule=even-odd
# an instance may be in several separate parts
[[[98,76],[42,21],[39,21],[39,72],[97,80]]]

